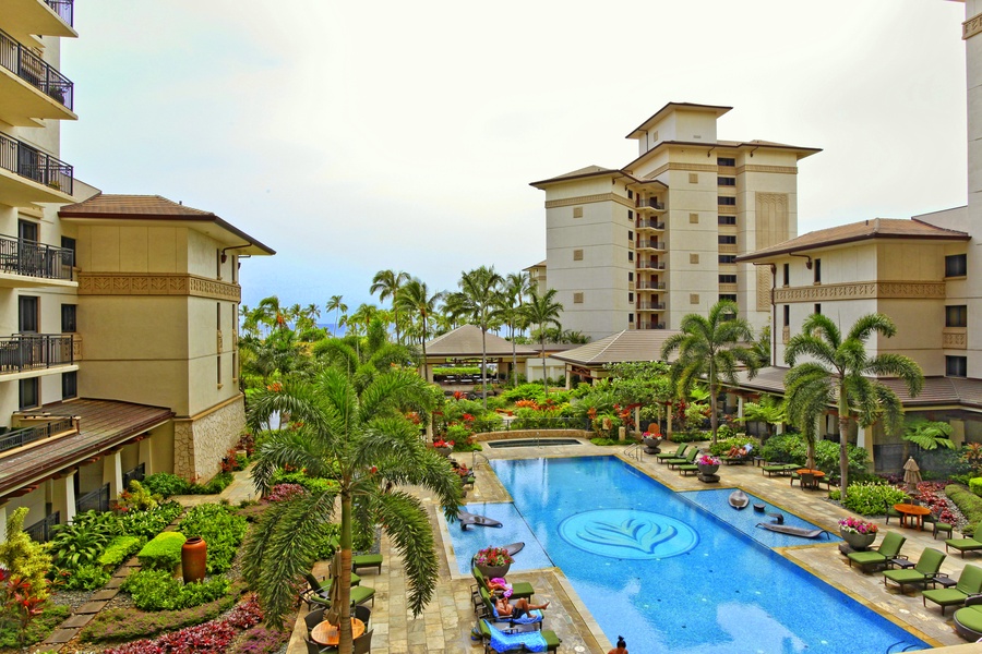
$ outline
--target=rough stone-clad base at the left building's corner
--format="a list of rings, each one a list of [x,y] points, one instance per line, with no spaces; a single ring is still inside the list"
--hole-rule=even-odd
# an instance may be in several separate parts
[[[173,473],[207,481],[220,472],[221,459],[246,427],[246,398],[240,396],[195,420],[173,423]]]

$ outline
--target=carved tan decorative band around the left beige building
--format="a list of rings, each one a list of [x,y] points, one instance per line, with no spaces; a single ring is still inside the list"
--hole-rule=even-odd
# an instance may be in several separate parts
[[[80,295],[191,295],[239,302],[242,289],[237,283],[206,279],[195,275],[129,272],[80,272]]]

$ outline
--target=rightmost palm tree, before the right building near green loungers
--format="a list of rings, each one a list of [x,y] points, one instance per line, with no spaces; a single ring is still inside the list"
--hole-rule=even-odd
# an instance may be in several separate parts
[[[872,376],[899,377],[911,397],[921,392],[924,375],[913,360],[902,354],[866,355],[866,340],[877,334],[891,337],[897,326],[889,317],[873,313],[859,318],[842,338],[828,316],[812,314],[785,349],[785,362],[792,366],[785,375],[788,415],[805,431],[812,429],[829,405],[839,410],[839,487],[846,499],[849,475],[848,429],[850,417],[863,427],[883,416],[887,434],[903,428],[903,407],[897,395]],[[809,361],[795,365],[803,358]],[[867,377],[870,375],[871,377]]]

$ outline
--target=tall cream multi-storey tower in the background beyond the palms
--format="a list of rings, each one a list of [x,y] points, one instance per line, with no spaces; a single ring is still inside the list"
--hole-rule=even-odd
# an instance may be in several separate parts
[[[770,278],[741,254],[798,234],[798,161],[821,152],[721,141],[730,107],[670,102],[632,130],[638,156],[534,182],[546,192],[546,270],[564,329],[600,339],[676,329],[690,313],[735,301],[768,324]]]

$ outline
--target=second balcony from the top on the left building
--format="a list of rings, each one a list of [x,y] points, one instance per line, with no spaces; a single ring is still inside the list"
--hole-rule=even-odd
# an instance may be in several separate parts
[[[21,126],[38,119],[75,120],[72,81],[21,41],[0,31],[0,118]]]

